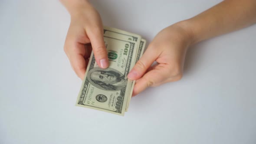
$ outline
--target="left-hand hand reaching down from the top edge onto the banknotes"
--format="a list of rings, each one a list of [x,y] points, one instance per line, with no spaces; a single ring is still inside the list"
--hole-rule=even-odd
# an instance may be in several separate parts
[[[86,0],[62,0],[62,3],[71,15],[64,51],[76,75],[80,79],[84,78],[92,50],[97,64],[102,69],[107,68],[107,50],[103,39],[102,20],[98,12]]]

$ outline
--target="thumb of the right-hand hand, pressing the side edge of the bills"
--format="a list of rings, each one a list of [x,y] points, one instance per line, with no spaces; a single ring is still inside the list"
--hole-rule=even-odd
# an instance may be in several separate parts
[[[158,52],[156,52],[154,48],[149,47],[148,49],[146,49],[141,59],[138,60],[138,62],[129,72],[128,78],[131,80],[136,80],[141,78],[157,58],[158,58]]]

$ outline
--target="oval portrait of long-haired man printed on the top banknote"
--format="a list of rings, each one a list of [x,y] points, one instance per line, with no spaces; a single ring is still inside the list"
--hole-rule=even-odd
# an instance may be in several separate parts
[[[119,91],[127,84],[125,75],[112,68],[93,68],[88,72],[87,78],[95,87],[107,91]]]

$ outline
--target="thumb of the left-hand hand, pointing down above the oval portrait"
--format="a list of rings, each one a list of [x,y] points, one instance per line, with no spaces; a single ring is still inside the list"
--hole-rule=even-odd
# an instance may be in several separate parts
[[[108,67],[108,53],[103,39],[103,29],[95,29],[88,33],[88,37],[92,44],[92,51],[95,60],[100,68],[106,69]]]

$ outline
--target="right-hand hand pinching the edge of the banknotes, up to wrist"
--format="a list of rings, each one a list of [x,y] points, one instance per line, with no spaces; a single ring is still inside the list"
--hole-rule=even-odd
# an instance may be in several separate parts
[[[177,23],[159,32],[129,72],[128,78],[136,80],[133,96],[147,87],[181,79],[187,48],[192,42],[183,25]],[[154,61],[157,64],[151,66]]]

